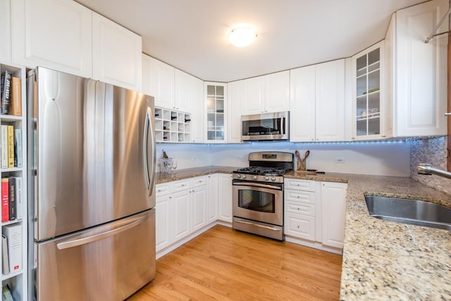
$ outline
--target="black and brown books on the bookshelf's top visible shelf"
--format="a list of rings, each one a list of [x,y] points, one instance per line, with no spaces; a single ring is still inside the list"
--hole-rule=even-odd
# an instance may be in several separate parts
[[[0,75],[0,113],[22,116],[22,81],[7,70]]]

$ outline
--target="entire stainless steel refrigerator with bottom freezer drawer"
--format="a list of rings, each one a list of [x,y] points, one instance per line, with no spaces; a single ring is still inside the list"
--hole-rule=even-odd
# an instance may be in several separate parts
[[[154,98],[27,79],[29,299],[123,300],[155,276]]]

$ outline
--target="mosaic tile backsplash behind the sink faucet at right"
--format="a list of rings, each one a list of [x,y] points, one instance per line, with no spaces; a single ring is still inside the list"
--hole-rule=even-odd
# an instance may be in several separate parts
[[[414,180],[451,195],[451,179],[435,175],[419,175],[416,172],[416,166],[420,163],[428,163],[434,168],[446,170],[446,137],[409,140],[409,145],[410,176]]]

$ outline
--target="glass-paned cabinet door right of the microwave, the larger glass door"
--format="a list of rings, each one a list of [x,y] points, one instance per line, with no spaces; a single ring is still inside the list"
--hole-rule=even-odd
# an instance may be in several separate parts
[[[355,61],[355,135],[381,135],[381,48]]]

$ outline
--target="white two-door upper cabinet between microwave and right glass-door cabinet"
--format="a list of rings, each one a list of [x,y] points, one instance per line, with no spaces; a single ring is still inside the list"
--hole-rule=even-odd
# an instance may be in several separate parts
[[[345,60],[290,70],[290,141],[345,140]]]

